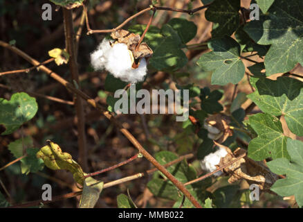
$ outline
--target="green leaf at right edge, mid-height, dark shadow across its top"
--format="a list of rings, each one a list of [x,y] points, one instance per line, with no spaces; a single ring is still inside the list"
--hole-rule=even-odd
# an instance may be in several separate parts
[[[257,89],[248,95],[258,107],[274,116],[284,115],[287,126],[292,133],[303,135],[303,83],[289,77],[277,80],[268,78],[251,78]]]

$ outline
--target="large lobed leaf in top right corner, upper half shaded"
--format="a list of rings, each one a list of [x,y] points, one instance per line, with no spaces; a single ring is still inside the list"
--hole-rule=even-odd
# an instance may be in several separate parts
[[[244,30],[258,44],[271,44],[265,56],[268,76],[290,71],[303,64],[303,8],[301,0],[275,1],[268,15],[249,22]]]

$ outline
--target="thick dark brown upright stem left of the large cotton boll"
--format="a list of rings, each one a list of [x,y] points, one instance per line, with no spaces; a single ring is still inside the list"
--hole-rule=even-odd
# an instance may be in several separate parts
[[[73,33],[73,17],[72,10],[62,8],[63,17],[64,17],[64,34],[66,49],[70,56],[68,60],[69,69],[71,71],[71,76],[73,81],[79,83],[79,71],[77,67],[77,53],[75,52],[75,39]],[[79,85],[79,84],[78,84]],[[75,110],[77,115],[77,131],[78,131],[78,148],[79,148],[79,157],[78,161],[82,166],[84,171],[88,170],[87,166],[87,151],[86,151],[86,137],[85,137],[85,117],[84,109],[82,104],[82,99],[74,94],[75,101]]]

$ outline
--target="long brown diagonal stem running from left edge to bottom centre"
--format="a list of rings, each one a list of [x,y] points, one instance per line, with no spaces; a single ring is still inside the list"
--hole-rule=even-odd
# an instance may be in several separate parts
[[[31,58],[30,56],[28,56],[26,53],[24,53],[23,51],[17,49],[15,46],[10,46],[10,44],[3,42],[0,40],[0,46],[6,47],[7,49],[10,49],[11,51],[17,53],[17,55],[23,57],[24,59],[28,60],[28,62],[32,63],[33,65],[37,65],[39,64],[39,62],[33,58]],[[186,187],[180,182],[178,181],[174,176],[172,176],[172,173],[169,173],[169,171],[167,171],[167,169],[165,169],[163,166],[161,166],[161,164],[159,164],[159,162],[156,161],[156,159],[154,157],[152,157],[152,155],[150,155],[145,148],[143,148],[143,146],[138,142],[138,140],[131,135],[131,133],[129,133],[129,130],[127,130],[126,128],[124,128],[122,126],[121,123],[119,123],[118,121],[116,121],[115,118],[113,118],[113,116],[108,112],[105,111],[105,108],[100,105],[99,103],[96,103],[93,99],[91,99],[91,97],[87,96],[86,94],[84,94],[84,92],[82,92],[80,89],[76,89],[71,83],[68,83],[68,81],[66,81],[64,78],[62,78],[61,76],[59,76],[58,74],[56,74],[55,72],[51,71],[50,69],[48,69],[45,66],[41,66],[41,70],[44,71],[46,74],[48,74],[50,77],[54,78],[55,80],[57,80],[59,83],[61,83],[62,85],[64,85],[66,88],[70,89],[71,92],[77,94],[77,96],[82,97],[82,99],[84,99],[87,103],[89,103],[90,105],[92,105],[94,108],[98,109],[100,112],[102,112],[104,114],[105,117],[107,117],[107,119],[113,121],[113,123],[118,126],[118,128],[120,128],[120,132],[125,135],[125,137],[127,137],[127,139],[129,139],[129,141],[138,149],[138,151],[140,153],[143,154],[143,156],[149,161],[152,162],[152,164],[159,170],[161,171],[161,173],[163,173],[169,180],[172,181],[172,183],[178,188],[180,189],[180,191],[185,194],[185,196],[190,200],[190,202],[194,205],[194,207],[199,207],[201,208],[201,205],[198,203],[198,201],[194,198],[194,196],[192,196],[192,194],[190,194],[190,191],[188,191],[186,189]]]

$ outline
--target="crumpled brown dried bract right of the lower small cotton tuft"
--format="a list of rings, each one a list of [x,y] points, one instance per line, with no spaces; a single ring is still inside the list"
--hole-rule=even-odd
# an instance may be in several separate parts
[[[246,151],[242,148],[237,148],[234,153],[229,150],[226,157],[221,158],[219,167],[228,164],[228,162],[235,160],[244,153],[246,153]],[[260,189],[265,190],[270,189],[275,181],[279,179],[279,176],[271,172],[264,162],[252,160],[247,156],[230,164],[228,167],[224,168],[223,171],[230,175],[230,178],[228,179],[228,182],[230,183],[236,182],[239,179],[244,179],[249,185],[256,184]]]

